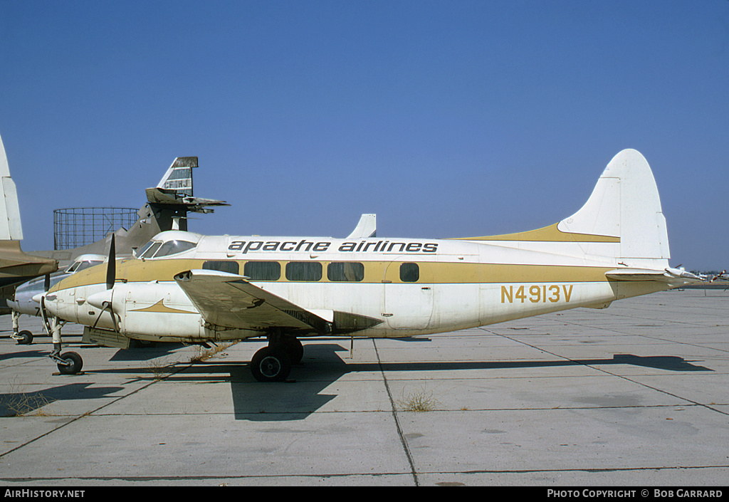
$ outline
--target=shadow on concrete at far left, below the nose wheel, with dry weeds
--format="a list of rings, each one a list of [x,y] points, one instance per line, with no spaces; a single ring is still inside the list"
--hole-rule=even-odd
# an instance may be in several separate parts
[[[78,401],[107,397],[124,387],[91,387],[90,383],[59,385],[31,393],[10,392],[0,394],[0,417],[32,415],[43,406],[55,401]]]

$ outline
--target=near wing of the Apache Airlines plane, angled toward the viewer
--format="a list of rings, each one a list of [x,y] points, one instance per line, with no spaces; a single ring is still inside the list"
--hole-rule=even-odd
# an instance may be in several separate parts
[[[283,328],[301,334],[346,333],[370,328],[381,320],[346,312],[321,315],[263,290],[237,274],[189,270],[175,276],[206,322],[221,328],[265,331]]]

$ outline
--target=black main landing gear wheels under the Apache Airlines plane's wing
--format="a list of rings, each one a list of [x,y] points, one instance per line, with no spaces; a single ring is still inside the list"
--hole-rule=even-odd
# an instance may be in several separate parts
[[[271,334],[268,346],[253,355],[251,373],[259,382],[284,382],[303,355],[304,347],[295,336]]]

